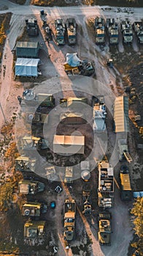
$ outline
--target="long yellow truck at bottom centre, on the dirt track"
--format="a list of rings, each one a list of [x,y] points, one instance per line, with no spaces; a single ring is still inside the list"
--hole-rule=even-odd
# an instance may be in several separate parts
[[[66,241],[71,241],[74,239],[74,225],[75,225],[75,214],[76,214],[75,200],[66,199],[64,206],[65,206],[65,214],[64,214],[63,237]]]

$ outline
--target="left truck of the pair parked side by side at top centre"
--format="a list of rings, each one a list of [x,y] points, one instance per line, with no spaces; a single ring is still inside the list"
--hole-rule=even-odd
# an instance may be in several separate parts
[[[55,40],[57,45],[65,45],[65,24],[58,18],[55,20]]]

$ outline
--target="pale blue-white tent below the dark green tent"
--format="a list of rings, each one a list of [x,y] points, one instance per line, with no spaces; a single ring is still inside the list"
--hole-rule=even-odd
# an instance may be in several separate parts
[[[18,58],[15,64],[15,75],[37,77],[39,59],[23,59]]]

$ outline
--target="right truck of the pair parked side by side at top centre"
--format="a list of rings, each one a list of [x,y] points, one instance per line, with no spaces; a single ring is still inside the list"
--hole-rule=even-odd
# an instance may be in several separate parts
[[[74,18],[68,18],[66,20],[66,30],[69,45],[74,45],[77,40],[77,23]]]

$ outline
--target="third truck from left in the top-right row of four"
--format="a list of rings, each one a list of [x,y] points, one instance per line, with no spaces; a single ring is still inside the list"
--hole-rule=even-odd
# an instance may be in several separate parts
[[[123,20],[120,23],[120,31],[123,35],[123,43],[128,44],[133,42],[133,29],[129,20]]]

